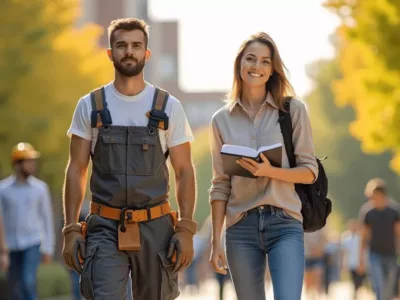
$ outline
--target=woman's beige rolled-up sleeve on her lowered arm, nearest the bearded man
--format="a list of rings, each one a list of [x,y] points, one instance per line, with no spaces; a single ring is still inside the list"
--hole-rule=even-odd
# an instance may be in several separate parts
[[[231,194],[231,178],[224,173],[221,158],[221,148],[223,141],[220,131],[218,130],[215,118],[212,119],[210,125],[210,148],[212,157],[212,173],[210,204],[215,200],[228,201]]]

